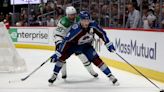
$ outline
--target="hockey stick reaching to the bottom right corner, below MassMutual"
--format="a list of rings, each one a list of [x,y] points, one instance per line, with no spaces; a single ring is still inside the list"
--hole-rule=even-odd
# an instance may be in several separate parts
[[[134,70],[136,70],[140,75],[142,75],[145,79],[147,79],[151,84],[153,84],[156,88],[160,90],[160,92],[164,92],[159,86],[157,86],[154,82],[152,82],[148,77],[146,77],[143,73],[141,73],[138,69],[136,69],[132,64],[130,64],[127,60],[125,60],[121,55],[114,51],[114,53],[119,56],[122,60],[124,60],[129,66],[131,66]]]

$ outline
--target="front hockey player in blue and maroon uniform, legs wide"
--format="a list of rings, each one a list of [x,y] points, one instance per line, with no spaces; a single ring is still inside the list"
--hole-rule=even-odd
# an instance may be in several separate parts
[[[51,58],[56,60],[52,77],[48,80],[53,83],[60,69],[63,66],[63,61],[69,58],[74,53],[83,53],[89,61],[95,64],[111,81],[114,85],[118,85],[118,80],[111,73],[107,65],[99,58],[97,52],[90,44],[93,34],[97,34],[105,43],[110,52],[114,52],[115,48],[113,43],[106,36],[105,31],[95,22],[91,21],[90,14],[87,11],[80,12],[80,22],[74,24],[70,29],[67,36],[64,38]]]

